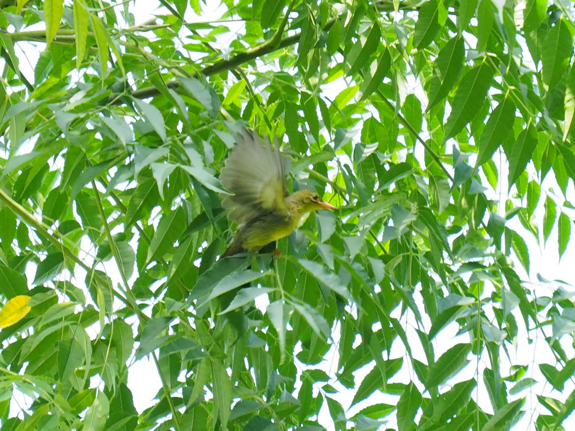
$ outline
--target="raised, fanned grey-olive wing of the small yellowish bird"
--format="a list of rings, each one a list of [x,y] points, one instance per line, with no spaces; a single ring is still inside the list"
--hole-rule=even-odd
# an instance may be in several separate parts
[[[225,195],[223,206],[229,218],[245,223],[260,214],[275,210],[287,214],[285,197],[289,192],[285,176],[290,161],[279,152],[279,144],[265,143],[253,131],[243,129],[220,172],[220,182],[233,195]]]

